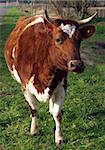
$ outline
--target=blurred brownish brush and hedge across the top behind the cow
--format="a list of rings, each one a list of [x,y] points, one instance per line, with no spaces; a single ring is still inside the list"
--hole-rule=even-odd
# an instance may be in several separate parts
[[[62,18],[84,18],[98,11],[97,17],[105,17],[105,0],[0,0],[7,7],[16,5],[27,14],[36,15],[47,9]]]

